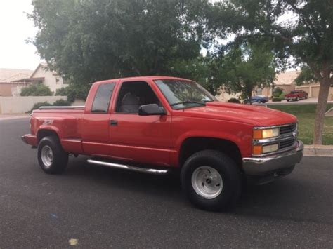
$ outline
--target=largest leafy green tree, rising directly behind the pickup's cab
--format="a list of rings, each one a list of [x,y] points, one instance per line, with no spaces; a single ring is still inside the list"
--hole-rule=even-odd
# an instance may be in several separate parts
[[[200,55],[201,0],[35,0],[34,45],[75,85],[171,74]]]

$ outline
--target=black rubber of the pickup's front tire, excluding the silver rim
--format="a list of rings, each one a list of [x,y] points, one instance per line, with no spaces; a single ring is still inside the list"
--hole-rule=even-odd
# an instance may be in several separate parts
[[[221,175],[222,190],[214,198],[205,198],[197,194],[195,187],[193,187],[192,175],[197,168],[202,168],[202,166],[214,168]],[[204,150],[193,154],[185,161],[181,169],[181,186],[193,205],[204,210],[221,211],[234,206],[240,197],[242,175],[235,161],[226,154],[215,150]]]

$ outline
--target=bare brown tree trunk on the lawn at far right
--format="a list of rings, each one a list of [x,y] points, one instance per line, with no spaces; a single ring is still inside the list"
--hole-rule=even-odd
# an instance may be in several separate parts
[[[324,76],[320,81],[318,104],[315,109],[315,133],[313,144],[322,144],[322,132],[324,131],[325,111],[329,94],[329,76]]]

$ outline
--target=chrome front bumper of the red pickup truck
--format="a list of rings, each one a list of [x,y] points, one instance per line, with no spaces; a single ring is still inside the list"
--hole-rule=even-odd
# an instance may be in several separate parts
[[[270,175],[291,168],[299,163],[303,157],[303,142],[297,141],[298,146],[282,154],[276,154],[267,157],[244,157],[243,170],[247,175]]]

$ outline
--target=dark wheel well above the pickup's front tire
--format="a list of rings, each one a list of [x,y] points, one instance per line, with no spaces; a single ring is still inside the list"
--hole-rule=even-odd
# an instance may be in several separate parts
[[[214,149],[219,152],[224,152],[230,158],[235,160],[238,166],[242,166],[242,154],[237,144],[230,140],[223,140],[219,138],[210,137],[190,137],[186,139],[181,145],[181,152],[179,154],[179,163],[181,166],[195,152],[200,152],[204,149]]]

